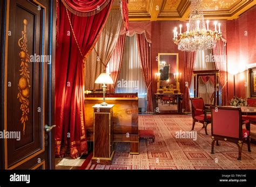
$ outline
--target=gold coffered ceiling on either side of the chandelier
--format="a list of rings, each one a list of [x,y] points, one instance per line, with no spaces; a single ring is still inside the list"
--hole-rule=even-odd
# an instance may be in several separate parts
[[[236,19],[256,5],[256,0],[203,0],[208,19]],[[129,0],[129,20],[187,20],[189,0]]]

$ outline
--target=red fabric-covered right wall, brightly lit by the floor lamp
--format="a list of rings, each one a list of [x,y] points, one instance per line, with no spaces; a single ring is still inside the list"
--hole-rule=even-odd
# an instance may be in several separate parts
[[[256,63],[256,7],[248,10],[238,19],[227,20],[227,65],[228,100],[234,96],[233,74],[235,75],[235,95],[246,97],[246,64]]]

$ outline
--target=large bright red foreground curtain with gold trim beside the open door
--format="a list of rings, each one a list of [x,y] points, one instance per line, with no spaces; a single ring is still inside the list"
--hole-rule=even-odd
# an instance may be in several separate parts
[[[76,158],[87,152],[83,66],[85,57],[105,25],[111,5],[112,1],[94,16],[79,17],[69,12],[63,3],[58,4],[55,88],[57,157],[70,154]]]

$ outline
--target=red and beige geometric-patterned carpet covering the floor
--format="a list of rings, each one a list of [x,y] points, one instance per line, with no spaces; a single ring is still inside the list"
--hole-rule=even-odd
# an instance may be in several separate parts
[[[140,154],[129,154],[129,143],[116,143],[112,165],[88,164],[86,169],[256,169],[256,146],[247,151],[242,148],[242,160],[238,161],[235,143],[220,141],[211,155],[211,124],[205,135],[202,125],[196,123],[197,140],[176,138],[180,130],[190,131],[192,117],[184,115],[139,116],[139,129],[153,130],[155,142],[140,140]],[[256,126],[251,128],[255,131]],[[256,131],[255,131],[256,132]]]

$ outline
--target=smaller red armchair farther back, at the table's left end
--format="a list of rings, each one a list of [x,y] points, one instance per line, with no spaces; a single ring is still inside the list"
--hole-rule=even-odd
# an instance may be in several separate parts
[[[206,114],[206,107],[204,104],[203,98],[190,98],[192,105],[192,118],[193,125],[192,130],[194,130],[194,125],[196,122],[203,124],[203,128],[205,128],[205,134],[207,134],[207,125],[211,123],[211,114]]]

